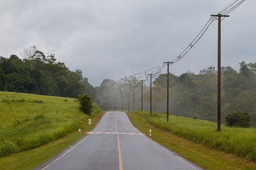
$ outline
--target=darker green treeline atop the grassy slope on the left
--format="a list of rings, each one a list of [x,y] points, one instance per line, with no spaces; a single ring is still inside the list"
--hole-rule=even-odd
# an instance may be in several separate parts
[[[63,62],[56,62],[54,54],[47,56],[31,46],[21,54],[0,57],[0,91],[75,97],[88,94],[94,97],[94,87],[82,71],[70,71]]]

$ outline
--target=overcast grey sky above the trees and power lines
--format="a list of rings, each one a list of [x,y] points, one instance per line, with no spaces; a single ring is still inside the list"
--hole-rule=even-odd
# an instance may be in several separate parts
[[[29,46],[55,54],[69,70],[82,70],[93,86],[103,79],[154,73],[187,48],[207,23],[233,0],[0,0],[0,56]],[[221,22],[221,65],[239,71],[255,62],[256,1],[246,0]],[[217,67],[217,21],[170,73]],[[162,73],[166,73],[166,68]]]

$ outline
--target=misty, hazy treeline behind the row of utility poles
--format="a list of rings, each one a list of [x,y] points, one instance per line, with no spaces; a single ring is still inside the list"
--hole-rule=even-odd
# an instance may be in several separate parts
[[[240,110],[251,114],[251,125],[256,127],[256,63],[240,63],[240,71],[230,66],[221,68],[221,122],[224,116]],[[169,75],[169,113],[178,116],[217,121],[217,71],[213,66],[196,75],[187,73]],[[141,109],[141,84],[134,77],[125,78],[117,83],[104,80],[98,87],[98,104],[104,109],[117,105],[120,109],[123,96],[123,109],[133,110],[133,87],[135,87],[135,110]],[[167,74],[160,74],[152,83],[152,110],[166,113]],[[115,101],[117,99],[117,101]],[[150,87],[143,87],[143,109],[149,110]],[[117,102],[117,104],[115,103]]]

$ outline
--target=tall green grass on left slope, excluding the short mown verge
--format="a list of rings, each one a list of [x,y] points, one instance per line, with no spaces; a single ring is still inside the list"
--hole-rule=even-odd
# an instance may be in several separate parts
[[[93,104],[90,117],[101,109]],[[0,156],[30,150],[81,128],[76,99],[0,92]]]

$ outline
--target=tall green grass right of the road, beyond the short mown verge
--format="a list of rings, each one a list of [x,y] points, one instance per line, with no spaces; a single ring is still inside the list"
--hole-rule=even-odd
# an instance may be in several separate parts
[[[255,128],[229,128],[222,125],[221,132],[218,132],[214,122],[179,116],[170,116],[167,122],[166,114],[153,113],[150,116],[147,111],[135,112],[146,118],[149,124],[160,129],[190,141],[256,161]]]

